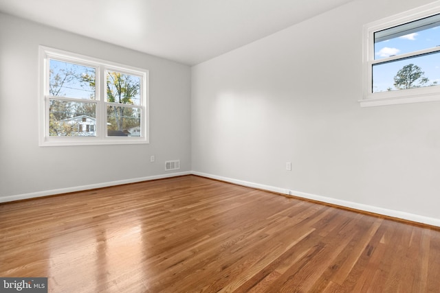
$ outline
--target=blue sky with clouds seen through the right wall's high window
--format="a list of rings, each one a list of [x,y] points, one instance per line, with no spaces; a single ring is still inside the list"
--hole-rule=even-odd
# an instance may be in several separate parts
[[[375,60],[437,46],[440,46],[440,27],[433,27],[428,30],[375,43]],[[373,92],[386,91],[388,87],[395,89],[394,76],[399,69],[410,63],[419,66],[425,72],[425,76],[430,80],[428,84],[432,84],[434,81],[440,84],[439,52],[437,54],[390,62],[373,67]]]

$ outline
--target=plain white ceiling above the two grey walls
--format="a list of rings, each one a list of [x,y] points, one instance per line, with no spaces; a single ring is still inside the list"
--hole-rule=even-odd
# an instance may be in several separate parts
[[[0,11],[196,65],[352,0],[0,0]]]

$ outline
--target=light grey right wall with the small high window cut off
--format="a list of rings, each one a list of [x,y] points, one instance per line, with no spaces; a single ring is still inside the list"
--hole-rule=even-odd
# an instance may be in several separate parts
[[[353,1],[192,67],[192,170],[440,226],[440,103],[358,103],[362,26],[426,3]]]

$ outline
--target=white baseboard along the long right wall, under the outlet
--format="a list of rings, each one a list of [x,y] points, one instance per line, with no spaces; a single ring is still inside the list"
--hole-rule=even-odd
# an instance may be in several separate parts
[[[283,188],[273,187],[273,186],[269,186],[269,185],[261,185],[259,183],[252,183],[252,182],[248,182],[248,181],[237,180],[237,179],[233,179],[233,178],[227,178],[227,177],[206,174],[206,173],[201,173],[201,172],[192,172],[192,174],[197,175],[197,176],[206,177],[206,178],[212,178],[212,179],[225,181],[228,183],[234,183],[236,185],[243,185],[246,187],[252,187],[252,188],[272,191],[272,192],[276,192],[278,194],[286,194],[289,196],[297,196],[298,198],[305,198],[305,199],[309,199],[309,200],[316,200],[318,202],[325,202],[327,204],[334,204],[334,205],[337,205],[340,207],[347,207],[349,209],[357,209],[360,211],[366,211],[369,213],[377,213],[380,215],[386,215],[388,217],[398,218],[398,219],[402,219],[402,220],[408,220],[411,222],[428,224],[428,225],[432,225],[432,226],[440,226],[440,219],[430,218],[430,217],[426,217],[423,215],[416,215],[414,213],[406,213],[404,211],[396,211],[393,209],[384,209],[382,207],[374,207],[374,206],[371,206],[368,204],[349,202],[347,200],[338,200],[336,198],[329,198],[326,196],[317,196],[315,194],[307,194],[307,193],[301,192],[301,191],[283,189]]]

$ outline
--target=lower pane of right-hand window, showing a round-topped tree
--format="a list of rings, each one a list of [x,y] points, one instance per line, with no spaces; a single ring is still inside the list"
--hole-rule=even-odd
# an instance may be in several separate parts
[[[373,65],[373,93],[440,84],[440,52]]]

